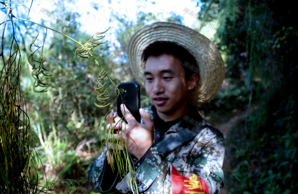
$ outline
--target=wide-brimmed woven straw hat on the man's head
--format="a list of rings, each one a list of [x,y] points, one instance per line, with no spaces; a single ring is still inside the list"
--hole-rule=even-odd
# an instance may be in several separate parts
[[[127,51],[128,62],[137,82],[145,86],[145,62],[142,54],[146,47],[157,41],[176,43],[195,58],[200,69],[200,80],[191,92],[189,104],[198,105],[211,100],[224,80],[225,69],[221,55],[207,37],[174,22],[155,22],[143,26],[131,37]]]

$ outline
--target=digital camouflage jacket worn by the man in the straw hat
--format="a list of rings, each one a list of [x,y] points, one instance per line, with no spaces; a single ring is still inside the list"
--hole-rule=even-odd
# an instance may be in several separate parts
[[[144,110],[150,114],[154,121],[155,107],[149,106]],[[144,123],[143,119],[141,123]],[[170,126],[163,138],[167,138],[182,129],[197,132],[192,140],[170,153],[164,155],[154,142],[139,160],[131,155],[139,193],[171,194],[172,166],[182,176],[193,173],[205,180],[210,194],[219,193],[220,188],[224,185],[222,165],[225,150],[224,143],[217,137],[223,137],[222,133],[203,120],[194,107],[178,123]],[[156,129],[154,132],[156,133]],[[111,193],[116,189],[122,193],[132,193],[125,177],[122,177],[122,181],[117,171],[113,173],[107,167],[106,150],[105,147],[103,154],[98,156],[94,163],[88,167],[87,178],[91,189],[100,193]],[[129,180],[129,173],[126,174],[126,178]]]

